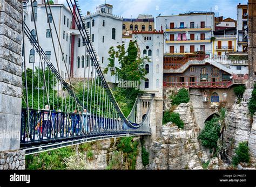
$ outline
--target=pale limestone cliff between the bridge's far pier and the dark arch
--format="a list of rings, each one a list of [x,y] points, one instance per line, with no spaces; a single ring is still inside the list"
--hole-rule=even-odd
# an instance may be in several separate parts
[[[149,169],[203,169],[201,159],[208,155],[200,150],[200,128],[193,119],[191,104],[180,104],[173,112],[180,114],[184,129],[168,123],[162,128],[162,137],[152,143],[152,161]]]

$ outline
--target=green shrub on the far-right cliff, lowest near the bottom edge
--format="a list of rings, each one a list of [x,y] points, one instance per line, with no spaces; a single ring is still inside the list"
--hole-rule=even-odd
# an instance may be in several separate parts
[[[237,166],[240,162],[248,163],[250,161],[250,156],[248,153],[248,142],[240,142],[238,148],[235,149],[235,155],[233,156],[232,163]]]

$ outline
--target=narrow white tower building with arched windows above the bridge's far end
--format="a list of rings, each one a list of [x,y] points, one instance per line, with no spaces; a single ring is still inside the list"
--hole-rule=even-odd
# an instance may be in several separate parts
[[[132,40],[137,40],[140,57],[148,56],[150,62],[145,62],[147,71],[146,80],[142,80],[140,90],[147,93],[163,95],[163,59],[164,59],[164,34],[158,31],[134,31]]]

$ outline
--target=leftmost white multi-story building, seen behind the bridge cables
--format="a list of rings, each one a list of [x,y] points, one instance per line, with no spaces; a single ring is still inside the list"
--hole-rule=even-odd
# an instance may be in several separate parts
[[[23,10],[24,10],[25,24],[28,25],[29,29],[31,30],[32,36],[35,37],[35,39],[37,39],[30,1],[23,1]],[[48,13],[49,13],[48,17],[52,27],[52,34],[53,34],[53,37],[52,37],[50,28],[49,28],[48,17],[46,15],[45,5],[43,4],[43,1],[33,1],[33,10],[35,12],[35,20],[36,20],[39,43],[42,46],[43,50],[45,51],[48,59],[51,60],[53,65],[56,67],[56,69],[57,69],[57,62],[58,62],[58,65],[60,68],[60,75],[63,78],[67,78],[68,72],[66,71],[66,68],[64,66],[64,60],[66,62],[66,66],[68,67],[69,74],[72,75],[73,69],[72,69],[71,63],[72,63],[72,58],[74,56],[71,55],[71,48],[72,48],[71,39],[72,39],[72,36],[76,38],[77,35],[79,35],[78,31],[74,27],[72,27],[72,13],[63,4],[51,5],[52,15],[49,13],[49,10],[48,10]],[[62,46],[64,58],[62,56],[60,47],[58,45],[56,33],[53,28],[52,18],[56,21],[57,32],[59,34],[60,45]],[[53,51],[52,38],[56,47],[57,61]],[[27,38],[26,38],[24,47],[25,47],[24,55],[26,56],[26,59],[28,61],[27,67],[31,69],[35,69],[36,66],[38,67],[40,62],[39,55],[37,54],[36,49],[32,47],[32,45],[30,44]]]

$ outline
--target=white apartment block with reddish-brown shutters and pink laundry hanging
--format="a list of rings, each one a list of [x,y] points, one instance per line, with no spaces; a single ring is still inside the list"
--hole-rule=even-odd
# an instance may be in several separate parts
[[[164,53],[184,54],[212,51],[213,12],[188,12],[176,16],[158,16],[156,30],[165,32]]]

